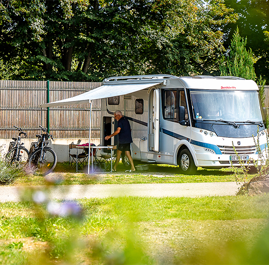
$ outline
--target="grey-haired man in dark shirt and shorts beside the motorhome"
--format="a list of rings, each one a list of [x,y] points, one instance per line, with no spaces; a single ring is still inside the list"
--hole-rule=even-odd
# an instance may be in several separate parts
[[[116,156],[116,162],[113,167],[113,170],[116,171],[120,155],[124,151],[125,155],[128,157],[130,163],[131,163],[131,171],[135,171],[134,161],[131,156],[131,149],[130,145],[133,143],[132,135],[131,135],[131,126],[129,123],[129,120],[123,117],[121,111],[115,111],[114,113],[115,120],[118,121],[117,129],[115,132],[113,132],[111,135],[108,135],[105,137],[106,140],[110,139],[112,136],[115,136],[118,134],[119,139],[119,145],[117,149],[117,156]]]

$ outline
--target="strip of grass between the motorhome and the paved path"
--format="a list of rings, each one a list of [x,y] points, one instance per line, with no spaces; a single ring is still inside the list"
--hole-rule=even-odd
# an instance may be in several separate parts
[[[87,172],[87,169],[85,169]],[[207,170],[198,168],[195,175],[178,173],[178,167],[171,165],[149,165],[149,171],[126,173],[122,163],[119,163],[117,172],[91,174],[77,173],[74,169],[68,169],[68,163],[58,163],[52,177],[59,181],[60,185],[84,185],[84,184],[140,184],[140,183],[193,183],[193,182],[230,182],[235,181],[231,168],[220,170]],[[253,175],[248,175],[250,180]],[[11,185],[44,185],[43,176],[24,175],[16,179]]]

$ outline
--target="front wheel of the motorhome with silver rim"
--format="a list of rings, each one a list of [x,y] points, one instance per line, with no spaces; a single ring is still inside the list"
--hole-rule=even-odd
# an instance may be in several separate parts
[[[179,165],[180,173],[193,175],[197,172],[197,167],[194,164],[192,154],[188,149],[183,149],[178,157],[177,164]]]

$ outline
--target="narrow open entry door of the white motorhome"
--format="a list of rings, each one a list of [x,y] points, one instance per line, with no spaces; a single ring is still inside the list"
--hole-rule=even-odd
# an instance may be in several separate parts
[[[151,91],[149,106],[149,150],[159,152],[160,94],[158,89]]]

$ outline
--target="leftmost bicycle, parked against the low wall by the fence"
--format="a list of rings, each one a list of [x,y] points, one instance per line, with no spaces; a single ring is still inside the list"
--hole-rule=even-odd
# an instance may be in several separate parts
[[[21,142],[21,138],[26,138],[27,133],[23,132],[17,126],[14,127],[19,131],[19,135],[18,138],[12,138],[13,141],[9,144],[9,148],[5,156],[5,161],[10,165],[16,164],[17,166],[25,166],[28,160],[29,151],[23,146],[24,143]]]

